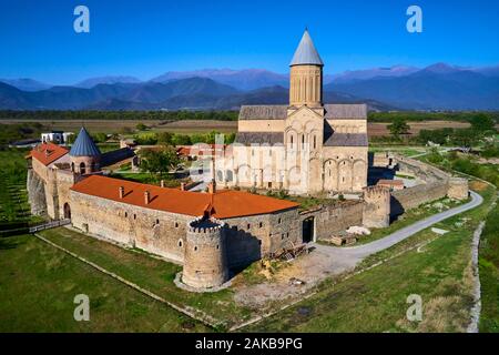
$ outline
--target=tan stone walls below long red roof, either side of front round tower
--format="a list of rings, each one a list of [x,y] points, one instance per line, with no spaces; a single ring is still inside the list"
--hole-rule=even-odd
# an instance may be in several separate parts
[[[72,224],[79,230],[184,264],[187,225],[193,216],[75,191],[71,191],[71,201]],[[224,220],[228,266],[247,265],[288,246],[289,241],[297,243],[297,221],[296,210]]]

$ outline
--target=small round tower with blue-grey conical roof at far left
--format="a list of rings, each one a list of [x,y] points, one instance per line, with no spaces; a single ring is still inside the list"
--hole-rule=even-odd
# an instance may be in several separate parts
[[[78,133],[69,155],[71,159],[71,171],[78,174],[91,174],[101,169],[101,151],[84,128]]]

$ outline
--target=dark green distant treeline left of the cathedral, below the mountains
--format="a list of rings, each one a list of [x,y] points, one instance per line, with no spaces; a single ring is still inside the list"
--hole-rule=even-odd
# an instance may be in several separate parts
[[[55,120],[218,120],[236,121],[237,111],[12,111],[1,110],[0,120],[55,121]]]

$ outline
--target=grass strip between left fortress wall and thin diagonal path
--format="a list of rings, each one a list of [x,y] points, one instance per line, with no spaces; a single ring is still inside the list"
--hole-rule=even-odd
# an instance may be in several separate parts
[[[214,323],[220,323],[221,328],[243,322],[252,315],[252,310],[235,304],[231,288],[216,293],[180,290],[173,280],[182,267],[153,258],[144,252],[125,250],[64,227],[40,234],[179,306],[204,312],[214,318]],[[200,315],[203,316],[201,313]]]

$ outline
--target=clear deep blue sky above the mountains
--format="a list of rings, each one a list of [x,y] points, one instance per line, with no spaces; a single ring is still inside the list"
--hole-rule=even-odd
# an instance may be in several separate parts
[[[90,9],[90,33],[73,30],[79,4]],[[422,9],[422,33],[406,30],[410,4]],[[0,0],[0,78],[68,84],[202,68],[284,73],[306,26],[327,73],[499,64],[496,0]]]

